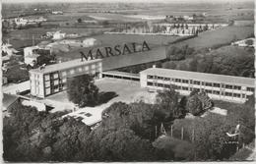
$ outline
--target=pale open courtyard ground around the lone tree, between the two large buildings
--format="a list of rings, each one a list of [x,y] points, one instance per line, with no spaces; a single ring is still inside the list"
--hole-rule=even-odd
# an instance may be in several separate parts
[[[117,95],[106,103],[94,107],[96,109],[100,108],[100,113],[103,109],[118,101],[126,103],[138,102],[140,100],[144,100],[147,103],[155,102],[156,93],[149,92],[146,88],[141,88],[140,82],[104,78],[97,80],[95,83],[99,88],[99,92],[112,92]],[[50,95],[42,101],[55,107],[52,112],[73,110],[75,108],[75,104],[68,100],[66,91]]]

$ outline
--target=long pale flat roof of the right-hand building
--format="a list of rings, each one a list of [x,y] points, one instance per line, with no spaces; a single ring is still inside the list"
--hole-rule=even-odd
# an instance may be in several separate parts
[[[140,72],[140,74],[149,74],[160,77],[169,77],[177,79],[186,79],[186,80],[197,80],[203,82],[224,82],[224,83],[234,83],[237,85],[246,85],[254,87],[255,80],[252,78],[243,78],[243,77],[233,77],[233,76],[224,76],[217,74],[207,74],[207,73],[198,73],[198,72],[189,72],[189,71],[180,71],[180,70],[170,70],[170,69],[161,69],[161,68],[150,68]]]

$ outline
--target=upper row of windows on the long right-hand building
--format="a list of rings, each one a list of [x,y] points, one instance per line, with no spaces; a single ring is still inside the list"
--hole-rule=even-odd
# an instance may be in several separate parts
[[[148,79],[221,87],[221,83],[216,83],[216,82],[200,82],[200,81],[192,81],[192,80],[170,79],[170,78],[163,78],[163,77],[158,77],[158,76],[155,76],[155,77],[154,76],[148,76]],[[238,86],[238,85],[231,85],[231,84],[222,83],[222,87],[227,88],[227,89],[241,90],[241,86]],[[254,88],[253,87],[247,87],[247,91],[254,91]]]

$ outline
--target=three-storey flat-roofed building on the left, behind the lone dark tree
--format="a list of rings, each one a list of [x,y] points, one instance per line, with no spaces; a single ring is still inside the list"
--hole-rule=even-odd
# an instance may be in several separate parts
[[[44,98],[67,88],[67,79],[85,74],[101,78],[101,59],[81,61],[81,59],[58,63],[30,71],[31,95]]]

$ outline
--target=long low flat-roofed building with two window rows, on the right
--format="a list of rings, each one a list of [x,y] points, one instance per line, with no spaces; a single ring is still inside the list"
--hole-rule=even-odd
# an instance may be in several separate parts
[[[142,87],[164,89],[171,84],[182,95],[193,89],[206,91],[213,99],[243,103],[254,92],[254,79],[179,70],[151,68],[140,72]]]

